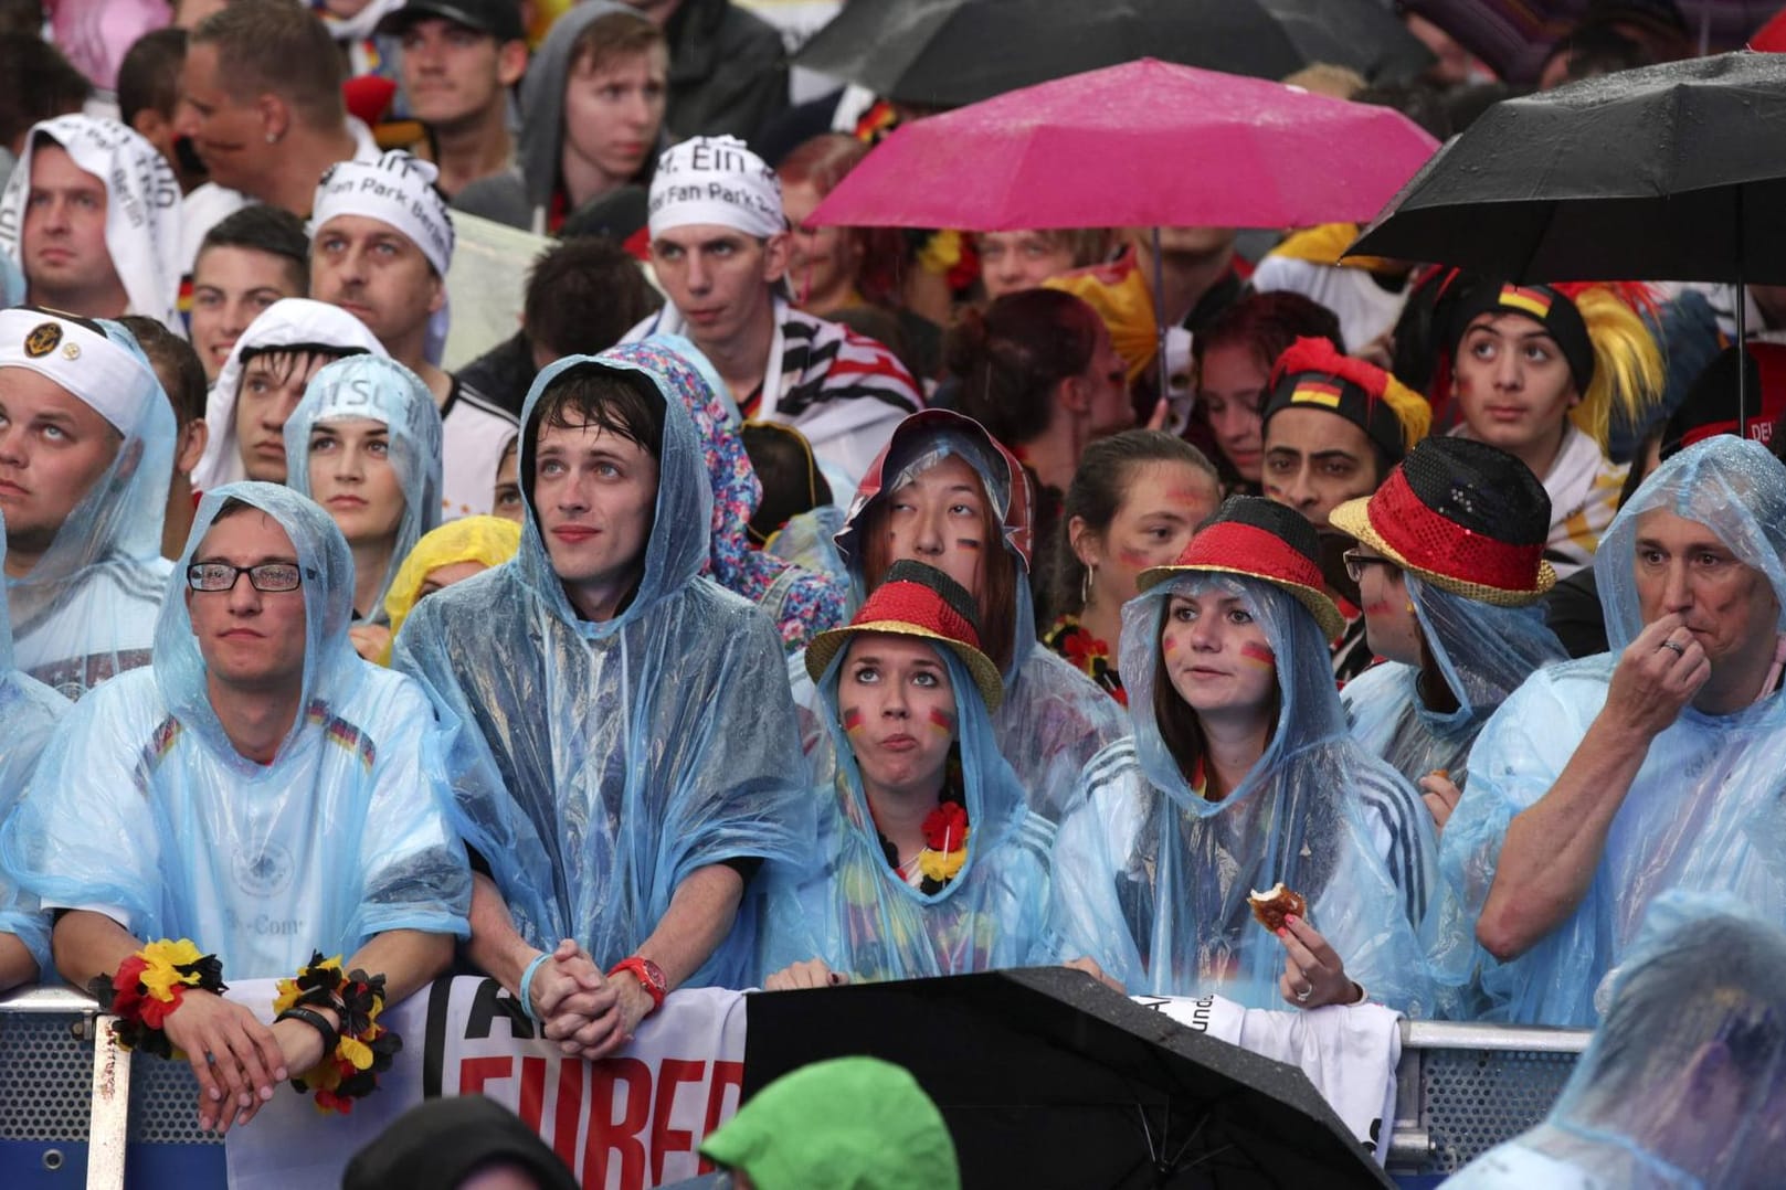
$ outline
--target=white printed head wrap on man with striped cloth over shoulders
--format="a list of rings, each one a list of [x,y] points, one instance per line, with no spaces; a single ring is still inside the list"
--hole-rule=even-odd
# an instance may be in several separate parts
[[[780,178],[736,136],[672,145],[652,175],[650,234],[711,223],[768,239],[788,230]]]

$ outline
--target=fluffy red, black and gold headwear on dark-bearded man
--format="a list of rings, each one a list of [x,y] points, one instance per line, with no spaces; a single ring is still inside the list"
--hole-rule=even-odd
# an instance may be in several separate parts
[[[1384,369],[1327,339],[1297,339],[1272,368],[1261,426],[1286,409],[1323,409],[1365,432],[1391,462],[1432,428],[1432,407]]]

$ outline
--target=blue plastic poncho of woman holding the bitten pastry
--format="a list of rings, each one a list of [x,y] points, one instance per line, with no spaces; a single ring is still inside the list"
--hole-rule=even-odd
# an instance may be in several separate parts
[[[1159,673],[1168,596],[1207,592],[1241,599],[1264,628],[1281,698],[1264,755],[1222,801],[1191,789],[1154,717],[1154,683],[1170,682]],[[1409,881],[1431,840],[1391,842],[1377,806],[1413,824],[1425,814],[1406,808],[1418,808],[1407,783],[1347,733],[1314,617],[1261,580],[1181,574],[1123,605],[1122,674],[1134,739],[1086,765],[1054,849],[1059,956],[1088,954],[1134,994],[1284,1008],[1284,944],[1247,906],[1248,892],[1282,881],[1370,999],[1427,1015]]]

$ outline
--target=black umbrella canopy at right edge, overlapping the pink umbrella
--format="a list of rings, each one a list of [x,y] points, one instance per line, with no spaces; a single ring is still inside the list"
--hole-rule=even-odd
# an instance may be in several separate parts
[[[1352,244],[1513,280],[1786,282],[1786,55],[1738,50],[1506,100]]]

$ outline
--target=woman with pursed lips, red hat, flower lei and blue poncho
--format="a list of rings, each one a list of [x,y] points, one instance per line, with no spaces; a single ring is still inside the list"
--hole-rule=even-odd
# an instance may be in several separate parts
[[[814,790],[816,855],[768,880],[766,990],[1047,962],[1054,828],[998,755],[975,621],[961,583],[895,562],[807,646],[838,776]]]

